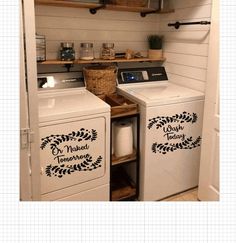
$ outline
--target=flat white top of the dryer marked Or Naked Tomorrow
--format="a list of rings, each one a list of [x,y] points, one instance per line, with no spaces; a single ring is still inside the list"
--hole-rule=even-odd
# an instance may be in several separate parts
[[[39,95],[39,122],[109,112],[110,106],[87,90]]]

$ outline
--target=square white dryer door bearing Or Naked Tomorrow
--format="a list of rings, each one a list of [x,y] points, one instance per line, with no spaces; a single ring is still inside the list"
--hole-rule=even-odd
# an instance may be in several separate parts
[[[99,117],[40,128],[42,194],[104,176],[105,123]]]

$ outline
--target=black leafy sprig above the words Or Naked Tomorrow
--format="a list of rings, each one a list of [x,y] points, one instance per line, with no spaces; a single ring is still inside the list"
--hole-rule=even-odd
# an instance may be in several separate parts
[[[81,128],[79,131],[64,135],[50,135],[45,138],[42,138],[42,144],[40,148],[43,150],[48,144],[50,144],[50,148],[53,149],[57,147],[60,143],[66,141],[82,141],[82,140],[90,140],[91,142],[97,139],[97,131],[92,129],[91,131],[85,130],[85,128]]]

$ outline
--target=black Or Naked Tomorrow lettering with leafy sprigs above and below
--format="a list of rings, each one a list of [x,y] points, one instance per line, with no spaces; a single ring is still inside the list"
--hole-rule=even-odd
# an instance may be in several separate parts
[[[79,131],[72,131],[69,134],[50,135],[42,138],[40,148],[42,150],[49,147],[53,159],[57,165],[46,166],[45,173],[47,176],[56,176],[62,178],[64,175],[70,175],[76,171],[92,171],[101,167],[102,156],[93,161],[92,156],[88,153],[90,143],[97,139],[97,131],[91,131],[81,128]],[[71,141],[78,142],[77,145],[71,145]],[[84,141],[86,144],[80,144]],[[68,143],[69,142],[69,143]],[[68,144],[67,144],[68,143]],[[81,154],[83,152],[83,154]],[[71,164],[71,162],[77,163]],[[80,161],[80,163],[78,163]]]

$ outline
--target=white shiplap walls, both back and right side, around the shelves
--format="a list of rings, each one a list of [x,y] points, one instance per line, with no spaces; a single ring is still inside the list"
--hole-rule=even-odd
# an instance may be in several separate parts
[[[100,10],[91,15],[87,9],[36,6],[36,30],[46,36],[47,59],[58,57],[63,41],[74,42],[76,53],[81,42],[93,42],[96,56],[103,42],[114,42],[116,51],[131,48],[146,54],[147,35],[163,34],[169,80],[204,92],[210,26],[181,26],[175,30],[167,24],[210,20],[211,0],[172,0],[172,6],[174,13],[146,18],[130,12]],[[50,68],[39,65],[39,72]],[[54,71],[57,69],[55,66]]]

